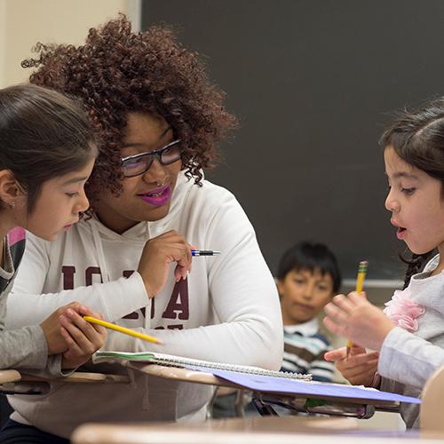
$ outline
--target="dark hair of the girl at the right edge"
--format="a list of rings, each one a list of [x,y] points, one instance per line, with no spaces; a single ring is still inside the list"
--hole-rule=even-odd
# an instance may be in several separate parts
[[[441,197],[444,196],[444,99],[432,100],[413,111],[404,109],[397,113],[379,143],[384,149],[392,147],[404,162],[440,180]],[[432,252],[412,254],[410,260],[400,255],[408,264],[404,289],[411,276],[424,268]]]

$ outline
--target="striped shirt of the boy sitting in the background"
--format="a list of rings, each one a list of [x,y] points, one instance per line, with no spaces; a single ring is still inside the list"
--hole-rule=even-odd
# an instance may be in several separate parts
[[[283,328],[284,352],[282,371],[311,373],[314,381],[331,382],[335,377],[335,364],[324,360],[331,350],[327,337],[319,332],[316,318]]]

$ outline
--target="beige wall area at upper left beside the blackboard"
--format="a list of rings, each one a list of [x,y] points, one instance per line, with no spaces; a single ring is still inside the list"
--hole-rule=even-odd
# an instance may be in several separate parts
[[[89,28],[126,13],[139,30],[140,0],[0,0],[0,87],[26,82],[36,42],[82,44]]]

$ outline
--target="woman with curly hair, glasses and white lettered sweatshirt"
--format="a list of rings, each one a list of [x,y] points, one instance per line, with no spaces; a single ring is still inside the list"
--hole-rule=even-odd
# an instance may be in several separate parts
[[[202,175],[236,120],[198,54],[169,28],[132,33],[124,16],[91,29],[83,46],[37,51],[25,62],[36,67],[31,82],[83,99],[99,158],[87,184],[90,218],[52,245],[31,239],[9,321],[35,323],[60,302],[78,300],[164,344],[110,332],[106,350],[279,369],[273,277],[233,194]],[[195,258],[192,267],[192,249],[221,254]],[[67,442],[57,437],[85,421],[203,420],[211,394],[210,386],[131,373],[131,385],[57,384],[42,398],[10,402],[19,439],[30,426],[36,437],[44,431]]]

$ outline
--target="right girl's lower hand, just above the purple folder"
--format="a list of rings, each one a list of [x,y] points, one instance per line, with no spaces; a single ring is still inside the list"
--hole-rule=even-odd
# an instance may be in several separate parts
[[[324,354],[326,361],[335,361],[341,375],[353,385],[371,386],[377,373],[379,352],[367,353],[365,348],[353,345],[347,358],[346,348],[338,348]]]

